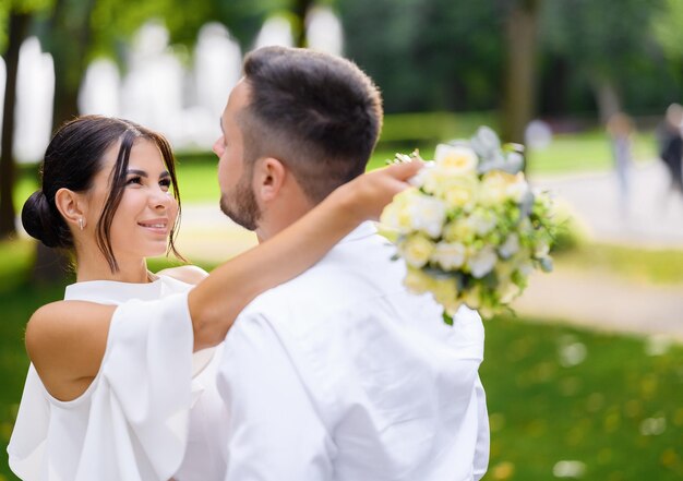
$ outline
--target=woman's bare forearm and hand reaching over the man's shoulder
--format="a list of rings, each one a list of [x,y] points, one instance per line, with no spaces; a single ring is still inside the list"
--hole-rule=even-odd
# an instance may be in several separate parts
[[[419,167],[399,164],[361,176],[277,236],[213,270],[188,299],[194,349],[220,342],[257,294],[311,267],[363,220],[378,218]]]

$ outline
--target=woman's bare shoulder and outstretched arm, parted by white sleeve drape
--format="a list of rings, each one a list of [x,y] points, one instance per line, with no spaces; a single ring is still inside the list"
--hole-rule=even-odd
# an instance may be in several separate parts
[[[420,167],[399,164],[363,175],[273,239],[217,267],[188,297],[194,349],[220,342],[238,313],[259,293],[315,264],[361,221],[378,218]],[[31,317],[26,348],[52,395],[73,397],[97,374],[115,310],[93,302],[58,301]],[[50,389],[63,383],[70,387]]]

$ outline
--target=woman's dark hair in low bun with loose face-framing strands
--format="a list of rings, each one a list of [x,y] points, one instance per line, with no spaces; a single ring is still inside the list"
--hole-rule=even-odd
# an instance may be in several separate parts
[[[178,201],[178,219],[169,236],[168,252],[182,258],[175,245],[180,219],[180,194],[170,145],[163,135],[123,119],[83,116],[64,123],[57,131],[45,152],[40,167],[41,189],[28,197],[22,209],[22,224],[26,232],[48,248],[72,249],[73,237],[57,209],[55,195],[62,188],[74,192],[91,189],[93,179],[101,169],[104,154],[120,141],[121,146],[111,171],[109,194],[96,226],[97,245],[107,258],[111,272],[117,272],[119,265],[110,240],[111,221],[123,196],[128,163],[137,139],[156,144],[170,175],[173,196]]]

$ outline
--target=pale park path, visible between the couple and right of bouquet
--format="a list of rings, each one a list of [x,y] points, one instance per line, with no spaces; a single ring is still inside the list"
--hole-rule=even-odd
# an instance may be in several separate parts
[[[667,199],[667,172],[656,161],[634,170],[626,213],[611,172],[531,181],[565,200],[596,241],[683,250],[683,199]],[[190,258],[218,262],[254,245],[255,238],[228,220],[217,203],[189,205],[178,244]],[[652,286],[560,265],[551,275],[532,276],[514,308],[525,317],[683,341],[683,285]]]

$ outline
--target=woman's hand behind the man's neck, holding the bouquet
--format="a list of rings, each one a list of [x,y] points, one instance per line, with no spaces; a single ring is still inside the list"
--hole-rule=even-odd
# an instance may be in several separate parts
[[[423,166],[420,160],[393,164],[357,177],[335,192],[359,223],[376,220],[394,195],[410,187],[408,180]]]

